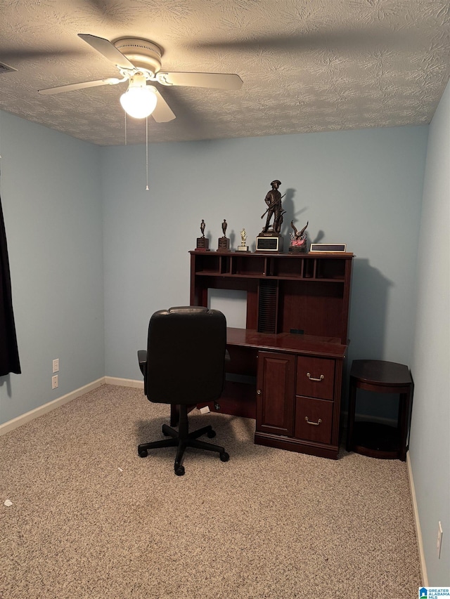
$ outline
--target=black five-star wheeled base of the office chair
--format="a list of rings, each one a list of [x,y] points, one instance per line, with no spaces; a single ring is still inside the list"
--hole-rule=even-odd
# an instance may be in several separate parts
[[[183,461],[186,447],[195,447],[196,449],[206,449],[209,452],[217,452],[221,461],[224,462],[229,461],[230,459],[230,456],[226,453],[224,447],[198,440],[198,437],[201,437],[202,435],[207,435],[210,439],[215,437],[216,433],[212,430],[212,426],[204,426],[203,428],[193,430],[192,433],[189,433],[187,405],[182,404],[179,406],[179,430],[175,430],[172,426],[163,424],[162,434],[171,438],[141,443],[141,445],[138,446],[138,454],[141,458],[146,458],[148,456],[148,449],[176,447],[174,470],[177,476],[184,475],[184,466],[181,462]]]

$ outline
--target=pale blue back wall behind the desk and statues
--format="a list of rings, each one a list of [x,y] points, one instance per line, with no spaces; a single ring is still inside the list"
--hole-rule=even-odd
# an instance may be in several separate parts
[[[233,247],[245,227],[254,249],[274,178],[286,243],[294,218],[309,221],[311,241],[356,254],[349,362],[410,364],[427,136],[418,126],[150,145],[149,191],[145,147],[104,148],[106,374],[139,379],[150,315],[188,303],[202,218],[212,249],[224,218]]]

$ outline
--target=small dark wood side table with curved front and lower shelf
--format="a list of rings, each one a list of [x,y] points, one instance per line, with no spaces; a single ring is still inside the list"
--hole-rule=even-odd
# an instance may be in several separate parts
[[[397,427],[375,422],[355,422],[356,390],[398,393]],[[413,397],[409,368],[397,362],[354,360],[350,370],[347,452],[372,458],[406,460]]]

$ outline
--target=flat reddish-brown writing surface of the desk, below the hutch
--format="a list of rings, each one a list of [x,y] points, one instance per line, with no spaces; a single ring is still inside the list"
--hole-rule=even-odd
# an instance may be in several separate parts
[[[335,337],[316,337],[312,335],[290,333],[258,333],[253,329],[226,329],[227,345],[273,350],[286,353],[302,353],[323,357],[345,358],[347,345],[342,345]]]

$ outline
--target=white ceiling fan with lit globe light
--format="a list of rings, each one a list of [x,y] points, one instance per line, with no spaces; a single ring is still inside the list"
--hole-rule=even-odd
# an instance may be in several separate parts
[[[152,82],[165,86],[233,90],[240,89],[243,84],[237,74],[161,72],[161,48],[148,39],[126,37],[111,43],[108,39],[95,35],[79,33],[78,36],[113,62],[122,75],[122,79],[108,77],[108,79],[96,81],[82,81],[81,83],[40,89],[39,93],[53,94],[88,87],[116,85],[128,80],[128,89],[120,98],[125,112],[137,119],[148,117],[151,114],[155,121],[163,123],[172,121],[175,114],[158,89],[151,85]]]

